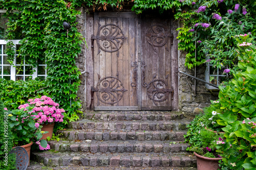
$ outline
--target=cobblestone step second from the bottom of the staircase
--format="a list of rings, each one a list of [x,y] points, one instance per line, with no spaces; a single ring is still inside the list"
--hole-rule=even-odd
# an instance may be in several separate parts
[[[187,143],[178,141],[49,141],[51,149],[59,152],[90,152],[90,153],[179,153],[186,152]]]

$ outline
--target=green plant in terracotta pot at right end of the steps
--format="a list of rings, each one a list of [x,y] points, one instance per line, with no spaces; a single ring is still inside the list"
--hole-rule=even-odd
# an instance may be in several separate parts
[[[188,131],[185,135],[185,141],[190,144],[187,150],[196,155],[199,170],[217,170],[219,160],[222,159],[222,154],[219,152],[223,147],[222,144],[225,143],[224,134],[205,129],[207,123],[211,122],[210,117],[212,117],[210,114],[197,115],[187,126]]]

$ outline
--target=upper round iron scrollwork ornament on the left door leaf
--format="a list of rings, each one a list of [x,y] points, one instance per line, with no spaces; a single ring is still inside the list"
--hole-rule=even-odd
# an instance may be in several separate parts
[[[92,40],[96,40],[98,45],[98,54],[100,53],[100,50],[108,53],[117,52],[116,55],[119,57],[118,50],[121,48],[127,37],[124,36],[118,24],[115,25],[109,23],[102,27],[100,26],[101,25],[98,23],[97,35],[92,35]]]

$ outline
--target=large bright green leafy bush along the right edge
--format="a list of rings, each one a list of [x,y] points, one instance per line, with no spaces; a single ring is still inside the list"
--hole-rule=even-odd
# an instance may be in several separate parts
[[[220,86],[219,103],[212,103],[217,111],[217,123],[225,126],[223,164],[230,169],[255,169],[256,166],[256,46],[250,35],[237,38],[236,50],[240,70],[233,71],[233,79]],[[255,122],[255,123],[254,123]]]

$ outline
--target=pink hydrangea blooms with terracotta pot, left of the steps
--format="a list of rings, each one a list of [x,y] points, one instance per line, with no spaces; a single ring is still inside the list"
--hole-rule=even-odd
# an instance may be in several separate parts
[[[59,104],[55,103],[51,98],[46,95],[41,96],[41,98],[29,99],[29,106],[33,107],[33,112],[37,113],[35,115],[36,122],[42,125],[42,131],[47,131],[48,133],[43,134],[41,139],[46,139],[48,136],[52,138],[53,128],[55,122],[63,122],[63,112],[64,109],[60,109]]]

